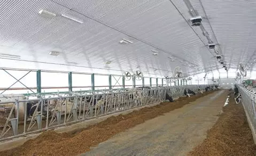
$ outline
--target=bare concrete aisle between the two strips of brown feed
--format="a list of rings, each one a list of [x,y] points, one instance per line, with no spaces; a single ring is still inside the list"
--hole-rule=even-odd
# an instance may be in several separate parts
[[[206,138],[227,93],[218,91],[115,135],[81,155],[187,155]]]

